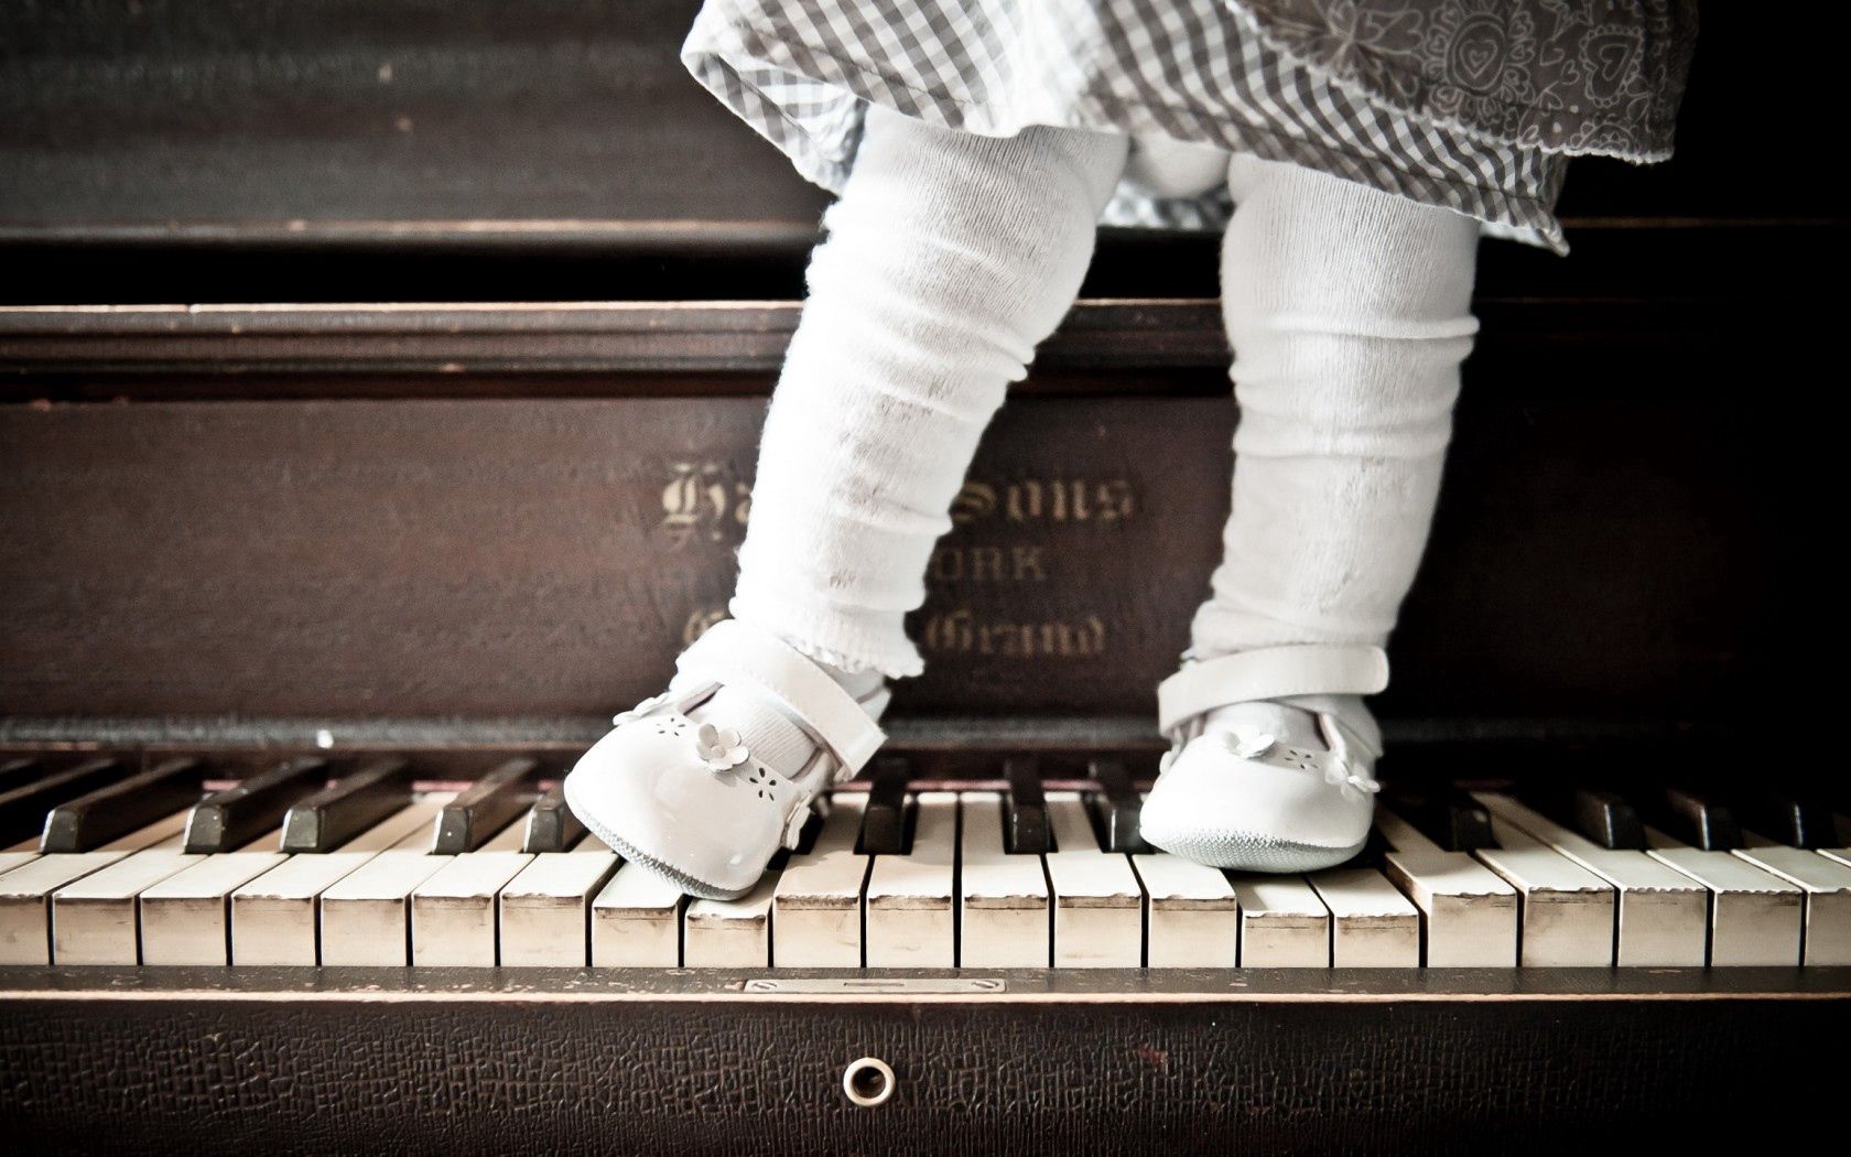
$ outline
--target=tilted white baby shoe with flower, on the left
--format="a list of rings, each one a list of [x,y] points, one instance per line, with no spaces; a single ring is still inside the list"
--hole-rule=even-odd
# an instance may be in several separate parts
[[[676,659],[668,690],[618,715],[565,779],[566,803],[598,839],[690,896],[746,894],[779,848],[796,848],[811,803],[887,740],[892,692],[851,696],[777,635],[726,618]],[[724,720],[689,718],[722,687],[750,687],[814,740],[783,776]]]

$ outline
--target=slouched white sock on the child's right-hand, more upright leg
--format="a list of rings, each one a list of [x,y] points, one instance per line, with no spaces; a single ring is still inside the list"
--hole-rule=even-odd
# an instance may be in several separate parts
[[[1222,305],[1233,511],[1190,653],[1383,644],[1427,544],[1472,350],[1477,222],[1236,154]]]

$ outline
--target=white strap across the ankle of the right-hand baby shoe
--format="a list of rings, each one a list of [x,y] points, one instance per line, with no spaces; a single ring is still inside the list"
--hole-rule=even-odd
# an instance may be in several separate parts
[[[1296,694],[1375,694],[1388,687],[1379,646],[1268,646],[1185,663],[1157,685],[1157,729],[1168,735],[1203,711]]]

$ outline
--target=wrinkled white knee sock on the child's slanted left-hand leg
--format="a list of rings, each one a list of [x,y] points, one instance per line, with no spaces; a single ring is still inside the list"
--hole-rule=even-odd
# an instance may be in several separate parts
[[[924,670],[901,618],[979,435],[1079,292],[1125,148],[868,109],[766,415],[735,618],[844,670]]]

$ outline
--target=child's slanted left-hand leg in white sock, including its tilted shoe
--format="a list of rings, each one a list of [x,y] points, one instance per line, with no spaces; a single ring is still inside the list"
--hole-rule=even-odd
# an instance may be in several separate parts
[[[700,896],[742,892],[837,772],[814,737],[864,757],[883,674],[924,666],[901,618],[926,600],[977,439],[1079,292],[1125,150],[870,107],[766,415],[737,622],[681,655],[683,674],[698,661],[676,687],[727,678],[685,720],[648,705],[566,778],[572,809],[626,859]]]

